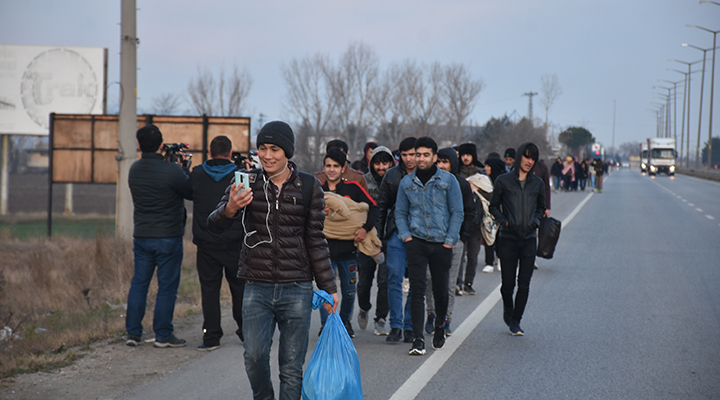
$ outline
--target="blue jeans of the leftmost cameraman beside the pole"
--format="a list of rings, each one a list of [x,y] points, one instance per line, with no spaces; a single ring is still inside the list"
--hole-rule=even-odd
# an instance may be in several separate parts
[[[128,310],[125,330],[129,335],[142,336],[147,292],[157,267],[158,291],[155,298],[153,331],[155,339],[166,339],[173,334],[172,317],[175,312],[177,288],[180,285],[182,265],[182,236],[174,238],[135,238],[135,274],[128,293]]]

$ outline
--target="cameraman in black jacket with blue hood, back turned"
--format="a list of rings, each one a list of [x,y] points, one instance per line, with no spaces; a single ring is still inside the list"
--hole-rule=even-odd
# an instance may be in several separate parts
[[[230,186],[238,169],[232,160],[232,142],[227,136],[217,136],[210,142],[210,159],[193,168],[190,186],[193,192],[193,243],[197,246],[197,271],[203,308],[203,342],[199,351],[220,347],[223,336],[220,325],[220,288],[223,272],[230,287],[233,319],[242,335],[242,298],[245,280],[237,277],[242,223],[235,221],[222,233],[208,231],[207,217],[220,202],[225,188]]]

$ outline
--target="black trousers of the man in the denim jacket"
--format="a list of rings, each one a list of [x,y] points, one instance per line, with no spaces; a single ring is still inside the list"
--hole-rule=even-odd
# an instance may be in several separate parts
[[[413,237],[405,242],[405,251],[408,263],[408,278],[410,279],[410,315],[412,316],[413,337],[423,337],[423,322],[425,321],[425,287],[426,274],[430,268],[433,296],[435,297],[435,325],[442,327],[447,317],[448,306],[448,279],[452,266],[452,249],[442,243],[430,243]]]

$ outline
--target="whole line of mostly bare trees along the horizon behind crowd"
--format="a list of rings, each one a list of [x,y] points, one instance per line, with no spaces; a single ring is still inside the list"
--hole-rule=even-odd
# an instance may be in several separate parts
[[[393,148],[407,136],[432,136],[441,146],[473,141],[481,159],[525,141],[537,144],[541,154],[550,154],[548,112],[562,94],[557,76],[544,75],[540,96],[544,124],[503,116],[473,126],[469,116],[485,84],[464,64],[406,59],[381,67],[370,47],[355,42],[337,59],[316,53],[293,58],[280,70],[286,90],[284,107],[296,131],[296,160],[305,169],[320,165],[325,143],[331,139],[347,142],[351,158],[360,158],[368,141]],[[154,98],[153,111],[173,114],[184,100],[193,113],[241,116],[252,83],[249,72],[237,66],[229,73],[221,67],[219,74],[198,67],[185,96]],[[579,137],[573,134],[567,139],[563,134],[559,141],[569,151],[579,151]],[[594,140],[592,135],[585,139]]]

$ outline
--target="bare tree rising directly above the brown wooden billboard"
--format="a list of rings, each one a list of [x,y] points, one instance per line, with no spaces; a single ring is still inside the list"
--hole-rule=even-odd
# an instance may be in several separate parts
[[[197,77],[188,84],[190,104],[198,114],[241,116],[252,83],[247,69],[240,70],[237,65],[233,66],[229,76],[221,67],[217,78],[207,68],[198,67]]]

